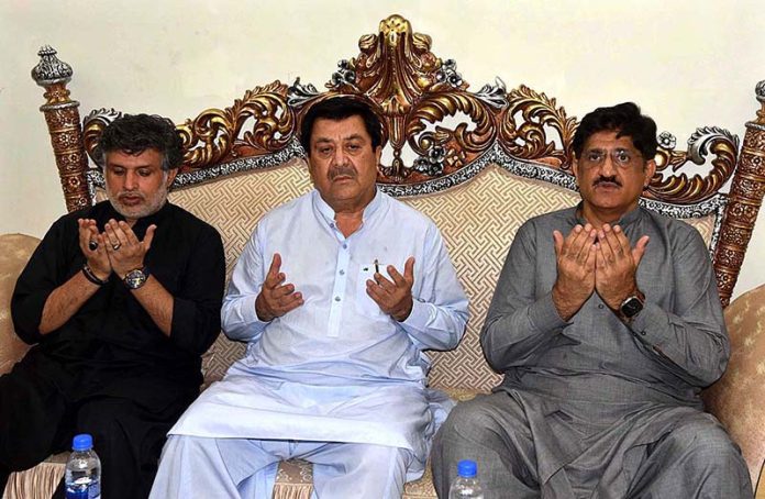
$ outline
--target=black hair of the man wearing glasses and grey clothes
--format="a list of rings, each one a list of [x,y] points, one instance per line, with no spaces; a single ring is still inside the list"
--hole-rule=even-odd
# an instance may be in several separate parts
[[[617,132],[617,137],[629,136],[645,160],[656,156],[656,122],[651,117],[641,114],[634,102],[598,108],[586,114],[572,143],[577,159],[581,156],[587,140],[598,132]]]

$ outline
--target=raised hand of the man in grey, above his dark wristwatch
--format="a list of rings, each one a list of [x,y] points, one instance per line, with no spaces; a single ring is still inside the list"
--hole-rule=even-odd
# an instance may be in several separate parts
[[[619,310],[625,298],[637,292],[635,273],[648,244],[648,236],[642,236],[632,248],[619,225],[605,223],[598,240],[595,289],[611,310]]]

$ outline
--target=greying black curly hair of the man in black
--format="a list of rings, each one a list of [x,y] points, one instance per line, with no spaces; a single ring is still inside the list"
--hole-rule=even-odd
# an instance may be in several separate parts
[[[96,163],[103,168],[107,153],[122,151],[141,154],[156,149],[162,154],[162,169],[178,168],[184,163],[184,141],[167,118],[149,114],[125,114],[112,121],[101,134],[93,151]]]

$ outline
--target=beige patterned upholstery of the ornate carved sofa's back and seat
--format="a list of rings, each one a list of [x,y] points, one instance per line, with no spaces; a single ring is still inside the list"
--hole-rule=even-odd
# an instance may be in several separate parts
[[[178,189],[170,193],[170,199],[212,223],[221,232],[226,266],[231,273],[258,219],[271,208],[310,189],[303,162],[293,160],[269,170],[240,174]],[[454,398],[465,400],[476,391],[489,390],[498,382],[499,376],[489,369],[480,353],[478,332],[512,236],[530,217],[569,207],[577,201],[576,192],[539,180],[520,178],[499,167],[489,167],[473,180],[445,192],[404,199],[404,202],[436,222],[470,298],[472,317],[459,347],[454,352],[431,353],[434,359],[431,385],[446,388]],[[692,224],[709,241],[711,219],[695,219]],[[736,304],[738,301],[734,306]],[[734,306],[731,306],[731,310]],[[231,363],[242,356],[243,350],[242,344],[230,342],[221,335],[204,358],[206,384],[220,379]],[[60,464],[48,462],[34,468],[34,473],[47,474],[47,478],[36,476],[34,479],[55,485],[62,468]],[[51,469],[58,469],[58,475],[53,475]],[[32,479],[29,476],[25,478]],[[29,486],[19,475],[16,479],[20,480],[19,486]],[[47,497],[40,494],[40,490],[35,492],[36,495],[32,495],[27,488],[9,498]],[[310,492],[310,464],[290,462],[279,467],[274,497],[309,498]],[[407,484],[404,497],[435,497],[430,470],[421,480]]]

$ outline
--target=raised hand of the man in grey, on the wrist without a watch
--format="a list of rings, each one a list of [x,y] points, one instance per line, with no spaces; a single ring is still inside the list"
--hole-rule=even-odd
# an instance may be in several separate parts
[[[597,233],[589,223],[577,224],[565,239],[553,231],[557,264],[553,302],[563,320],[574,317],[595,290]]]

